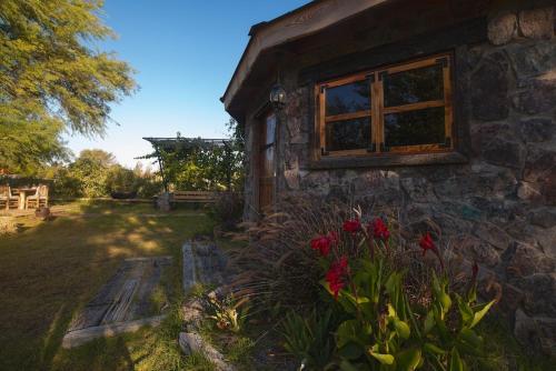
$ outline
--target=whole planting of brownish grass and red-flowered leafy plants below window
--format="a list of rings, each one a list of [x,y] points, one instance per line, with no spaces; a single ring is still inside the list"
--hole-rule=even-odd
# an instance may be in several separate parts
[[[496,300],[478,302],[476,264],[455,282],[436,233],[410,243],[391,218],[317,202],[286,204],[251,225],[257,240],[240,253],[249,294],[295,308],[282,333],[305,369],[451,371],[484,357],[476,327]],[[340,323],[307,320],[310,303]]]

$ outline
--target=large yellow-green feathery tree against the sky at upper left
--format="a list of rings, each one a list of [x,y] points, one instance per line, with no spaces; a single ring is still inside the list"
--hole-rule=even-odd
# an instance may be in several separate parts
[[[102,4],[0,1],[0,147],[33,142],[0,152],[0,166],[19,169],[30,159],[59,154],[64,129],[103,134],[110,104],[136,89],[126,62],[93,49],[113,37],[99,18]]]

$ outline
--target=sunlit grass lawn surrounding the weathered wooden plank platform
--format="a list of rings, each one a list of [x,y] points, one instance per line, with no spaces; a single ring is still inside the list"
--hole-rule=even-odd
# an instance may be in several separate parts
[[[18,218],[22,231],[0,238],[0,370],[172,370],[182,368],[176,345],[179,310],[159,329],[60,348],[77,310],[116,272],[122,259],[171,254],[179,288],[183,240],[210,233],[200,211],[162,214],[148,204],[72,203],[62,217]]]

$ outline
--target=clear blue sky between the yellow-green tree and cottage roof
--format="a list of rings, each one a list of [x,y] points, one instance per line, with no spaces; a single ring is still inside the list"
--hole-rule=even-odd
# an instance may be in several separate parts
[[[221,138],[229,117],[219,98],[248,42],[251,24],[307,0],[106,0],[105,22],[118,34],[101,49],[136,70],[140,90],[112,108],[103,139],[67,136],[78,154],[112,152],[122,164],[149,153],[141,137]]]

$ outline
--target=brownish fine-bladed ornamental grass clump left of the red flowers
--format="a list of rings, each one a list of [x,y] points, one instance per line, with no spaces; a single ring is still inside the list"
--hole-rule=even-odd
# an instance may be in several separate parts
[[[231,264],[244,272],[232,284],[268,311],[310,310],[319,295],[320,268],[306,249],[308,239],[340,223],[348,212],[342,203],[299,197],[282,200],[279,213],[258,223],[242,223],[246,232],[236,239],[249,243],[230,251]]]

